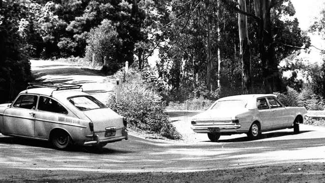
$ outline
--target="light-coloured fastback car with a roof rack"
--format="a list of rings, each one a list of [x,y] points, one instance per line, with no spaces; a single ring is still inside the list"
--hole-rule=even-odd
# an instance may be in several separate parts
[[[81,90],[74,84],[30,83],[13,103],[0,104],[0,132],[49,140],[58,149],[127,140],[126,118]]]

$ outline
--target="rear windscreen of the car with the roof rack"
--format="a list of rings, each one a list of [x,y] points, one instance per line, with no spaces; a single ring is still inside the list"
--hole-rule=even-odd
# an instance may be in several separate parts
[[[102,102],[98,101],[92,96],[77,96],[68,98],[68,100],[81,111],[98,108],[107,108],[106,105],[104,105]]]

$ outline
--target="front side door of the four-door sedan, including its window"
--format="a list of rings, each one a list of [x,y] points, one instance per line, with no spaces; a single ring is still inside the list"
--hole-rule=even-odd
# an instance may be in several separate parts
[[[272,110],[272,121],[274,123],[274,129],[284,128],[287,126],[289,115],[286,112],[284,106],[282,106],[275,97],[267,97],[267,101]]]

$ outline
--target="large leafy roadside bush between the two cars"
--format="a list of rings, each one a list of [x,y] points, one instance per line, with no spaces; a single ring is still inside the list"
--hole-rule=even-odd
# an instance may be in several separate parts
[[[123,72],[118,72],[117,75],[123,77],[121,73]],[[121,85],[120,103],[112,96],[108,106],[127,117],[131,128],[155,132],[170,139],[181,138],[164,112],[165,102],[162,101],[162,97],[149,89],[141,79],[141,75],[132,70]]]

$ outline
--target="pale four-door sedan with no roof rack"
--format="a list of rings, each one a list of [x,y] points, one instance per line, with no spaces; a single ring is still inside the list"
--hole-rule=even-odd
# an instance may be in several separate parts
[[[304,107],[285,107],[273,94],[236,95],[220,98],[208,110],[193,116],[191,128],[207,133],[211,141],[237,133],[257,139],[263,131],[293,128],[299,133],[306,112]]]

